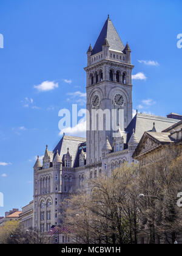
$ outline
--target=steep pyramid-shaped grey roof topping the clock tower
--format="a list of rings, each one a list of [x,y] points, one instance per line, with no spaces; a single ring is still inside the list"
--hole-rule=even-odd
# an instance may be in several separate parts
[[[99,34],[98,39],[96,40],[95,46],[93,47],[92,55],[103,51],[102,46],[106,38],[110,46],[110,49],[121,52],[123,51],[124,44],[121,41],[121,38],[118,35],[118,32],[116,31],[115,27],[113,26],[109,16],[103,26],[103,29],[101,30],[101,33]]]

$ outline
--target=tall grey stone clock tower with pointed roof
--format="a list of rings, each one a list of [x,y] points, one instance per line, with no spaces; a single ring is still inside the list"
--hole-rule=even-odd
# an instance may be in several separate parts
[[[87,165],[99,165],[106,140],[112,147],[132,120],[130,54],[108,16],[87,51]]]

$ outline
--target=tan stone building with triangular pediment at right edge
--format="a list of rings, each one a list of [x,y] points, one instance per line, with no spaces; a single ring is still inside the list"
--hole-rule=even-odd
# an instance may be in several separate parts
[[[153,162],[160,163],[161,160],[166,158],[166,154],[168,157],[168,154],[173,155],[175,160],[182,154],[182,121],[173,124],[162,132],[157,132],[154,129],[150,132],[144,132],[143,137],[133,153],[133,158],[138,160],[140,169],[149,171],[150,168],[155,168]],[[156,168],[158,168],[157,166]],[[156,171],[157,170],[158,169],[156,169]],[[158,196],[158,194],[154,196]],[[150,241],[150,237],[146,235],[148,233],[146,232],[147,228],[148,226],[146,224],[143,225],[143,232],[141,231],[139,235],[141,243],[147,244]],[[176,239],[178,243],[182,243],[180,235],[178,235]],[[158,243],[166,243],[164,238],[158,238],[157,240]]]

